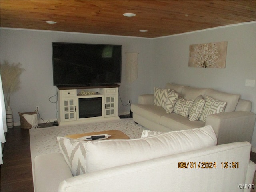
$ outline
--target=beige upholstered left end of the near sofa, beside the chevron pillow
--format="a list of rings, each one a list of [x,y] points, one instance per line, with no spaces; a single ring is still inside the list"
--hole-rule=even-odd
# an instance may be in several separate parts
[[[61,181],[73,177],[62,153],[36,156],[34,159],[34,191],[58,191]]]

